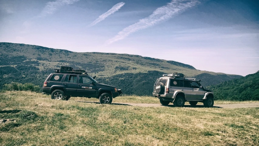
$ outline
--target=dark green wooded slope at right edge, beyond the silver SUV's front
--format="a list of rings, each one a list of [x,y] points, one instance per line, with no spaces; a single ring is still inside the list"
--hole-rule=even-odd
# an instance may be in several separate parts
[[[209,88],[220,100],[259,100],[259,71]]]

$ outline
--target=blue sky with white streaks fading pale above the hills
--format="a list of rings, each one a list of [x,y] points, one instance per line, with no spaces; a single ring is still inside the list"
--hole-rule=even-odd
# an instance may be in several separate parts
[[[259,70],[258,0],[0,0],[0,42]]]

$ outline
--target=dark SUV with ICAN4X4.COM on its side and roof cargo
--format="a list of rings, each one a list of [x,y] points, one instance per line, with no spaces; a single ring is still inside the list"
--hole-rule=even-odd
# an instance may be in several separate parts
[[[73,68],[72,68],[73,70]],[[100,99],[100,103],[111,103],[112,98],[121,95],[116,87],[100,84],[86,74],[77,71],[59,71],[51,73],[44,81],[42,92],[50,94],[51,99],[68,100],[70,97],[87,97]],[[62,73],[69,72],[69,73]]]

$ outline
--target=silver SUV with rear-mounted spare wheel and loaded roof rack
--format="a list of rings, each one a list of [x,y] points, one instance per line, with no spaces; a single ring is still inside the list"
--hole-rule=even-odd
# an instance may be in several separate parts
[[[200,80],[184,78],[183,74],[177,72],[158,78],[153,96],[158,97],[162,105],[173,103],[175,106],[183,106],[185,102],[189,102],[190,105],[202,102],[205,107],[212,107],[214,104],[212,90],[204,89]]]

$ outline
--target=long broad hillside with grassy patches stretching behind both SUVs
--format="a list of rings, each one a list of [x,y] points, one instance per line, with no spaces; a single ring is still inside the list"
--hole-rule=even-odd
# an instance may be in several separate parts
[[[176,61],[131,54],[72,52],[36,45],[0,43],[0,89],[11,82],[43,85],[46,77],[60,66],[85,69],[99,82],[114,85],[125,94],[151,95],[153,84],[165,73],[179,72],[202,80],[203,86],[216,85],[240,75],[200,71]]]

